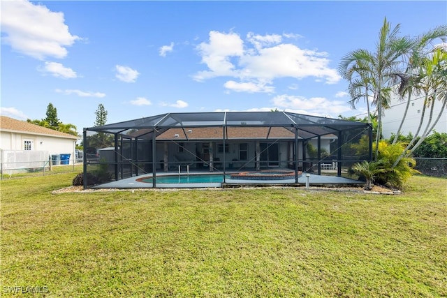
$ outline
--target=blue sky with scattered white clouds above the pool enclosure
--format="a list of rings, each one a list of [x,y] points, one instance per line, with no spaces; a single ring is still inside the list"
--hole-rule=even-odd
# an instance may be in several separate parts
[[[447,1],[1,1],[1,114],[78,132],[168,112],[365,117],[337,66],[447,24]]]

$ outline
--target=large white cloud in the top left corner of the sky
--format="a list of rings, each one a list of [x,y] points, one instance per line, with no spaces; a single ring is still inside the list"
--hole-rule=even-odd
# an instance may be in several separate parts
[[[55,13],[29,1],[1,1],[1,31],[13,50],[43,60],[64,58],[79,37],[68,31],[64,13]]]

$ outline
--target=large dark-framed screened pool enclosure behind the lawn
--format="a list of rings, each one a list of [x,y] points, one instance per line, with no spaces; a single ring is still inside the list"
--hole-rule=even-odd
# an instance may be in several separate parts
[[[157,177],[205,173],[222,174],[222,184],[299,184],[304,173],[352,178],[353,163],[372,159],[370,124],[291,112],[167,113],[85,128],[83,137],[85,188],[141,177],[156,188]]]

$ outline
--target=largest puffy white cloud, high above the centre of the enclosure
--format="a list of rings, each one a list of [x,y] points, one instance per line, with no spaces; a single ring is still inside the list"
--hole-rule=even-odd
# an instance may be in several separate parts
[[[247,92],[255,92],[247,83],[261,86],[272,84],[281,77],[297,80],[314,77],[327,84],[341,80],[337,70],[329,66],[328,53],[281,43],[283,37],[297,36],[292,33],[261,36],[250,32],[247,34],[248,43],[244,43],[237,33],[211,31],[208,42],[200,43],[196,49],[207,70],[199,71],[193,79],[203,81],[212,77],[232,77],[234,80],[229,80],[226,87],[236,91],[245,89]],[[260,88],[256,92],[265,90]]]

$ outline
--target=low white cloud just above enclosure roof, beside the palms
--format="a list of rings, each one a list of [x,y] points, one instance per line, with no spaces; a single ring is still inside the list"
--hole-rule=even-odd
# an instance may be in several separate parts
[[[321,117],[330,115],[332,118],[351,111],[351,107],[344,101],[328,100],[323,97],[305,98],[304,96],[279,95],[272,98],[272,103],[278,110],[311,114]]]

